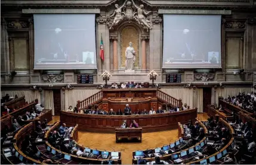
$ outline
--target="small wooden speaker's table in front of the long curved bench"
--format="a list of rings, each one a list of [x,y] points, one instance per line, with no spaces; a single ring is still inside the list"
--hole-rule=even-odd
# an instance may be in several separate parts
[[[142,128],[116,128],[116,142],[141,142]]]

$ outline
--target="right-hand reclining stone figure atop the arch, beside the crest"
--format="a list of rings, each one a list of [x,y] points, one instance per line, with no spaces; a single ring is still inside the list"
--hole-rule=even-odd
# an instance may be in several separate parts
[[[146,12],[146,10],[143,9],[144,5],[141,4],[140,7],[138,7],[136,4],[134,4],[133,0],[131,0],[131,2],[132,2],[132,5],[134,5],[134,7],[137,8],[137,13],[138,13],[137,19],[138,19],[138,22],[140,24],[143,24],[147,28],[152,29],[152,26],[150,25],[150,21],[147,20],[146,17],[144,16],[144,15],[146,15],[146,16],[149,15],[151,13],[151,11]]]

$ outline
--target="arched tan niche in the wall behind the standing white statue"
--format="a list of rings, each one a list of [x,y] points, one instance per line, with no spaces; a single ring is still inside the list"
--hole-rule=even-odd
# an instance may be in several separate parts
[[[134,21],[123,21],[116,30],[118,36],[118,65],[119,69],[125,69],[125,49],[132,42],[132,47],[136,52],[134,69],[141,69],[141,36],[148,36]]]

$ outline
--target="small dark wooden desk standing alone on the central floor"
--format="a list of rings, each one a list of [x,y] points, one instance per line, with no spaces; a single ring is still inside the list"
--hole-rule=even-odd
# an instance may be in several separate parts
[[[116,142],[119,138],[138,138],[141,142],[142,128],[116,128]]]

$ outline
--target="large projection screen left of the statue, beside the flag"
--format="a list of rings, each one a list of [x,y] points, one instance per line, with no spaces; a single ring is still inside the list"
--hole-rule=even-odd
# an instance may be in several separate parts
[[[34,14],[34,69],[97,69],[95,14]]]

